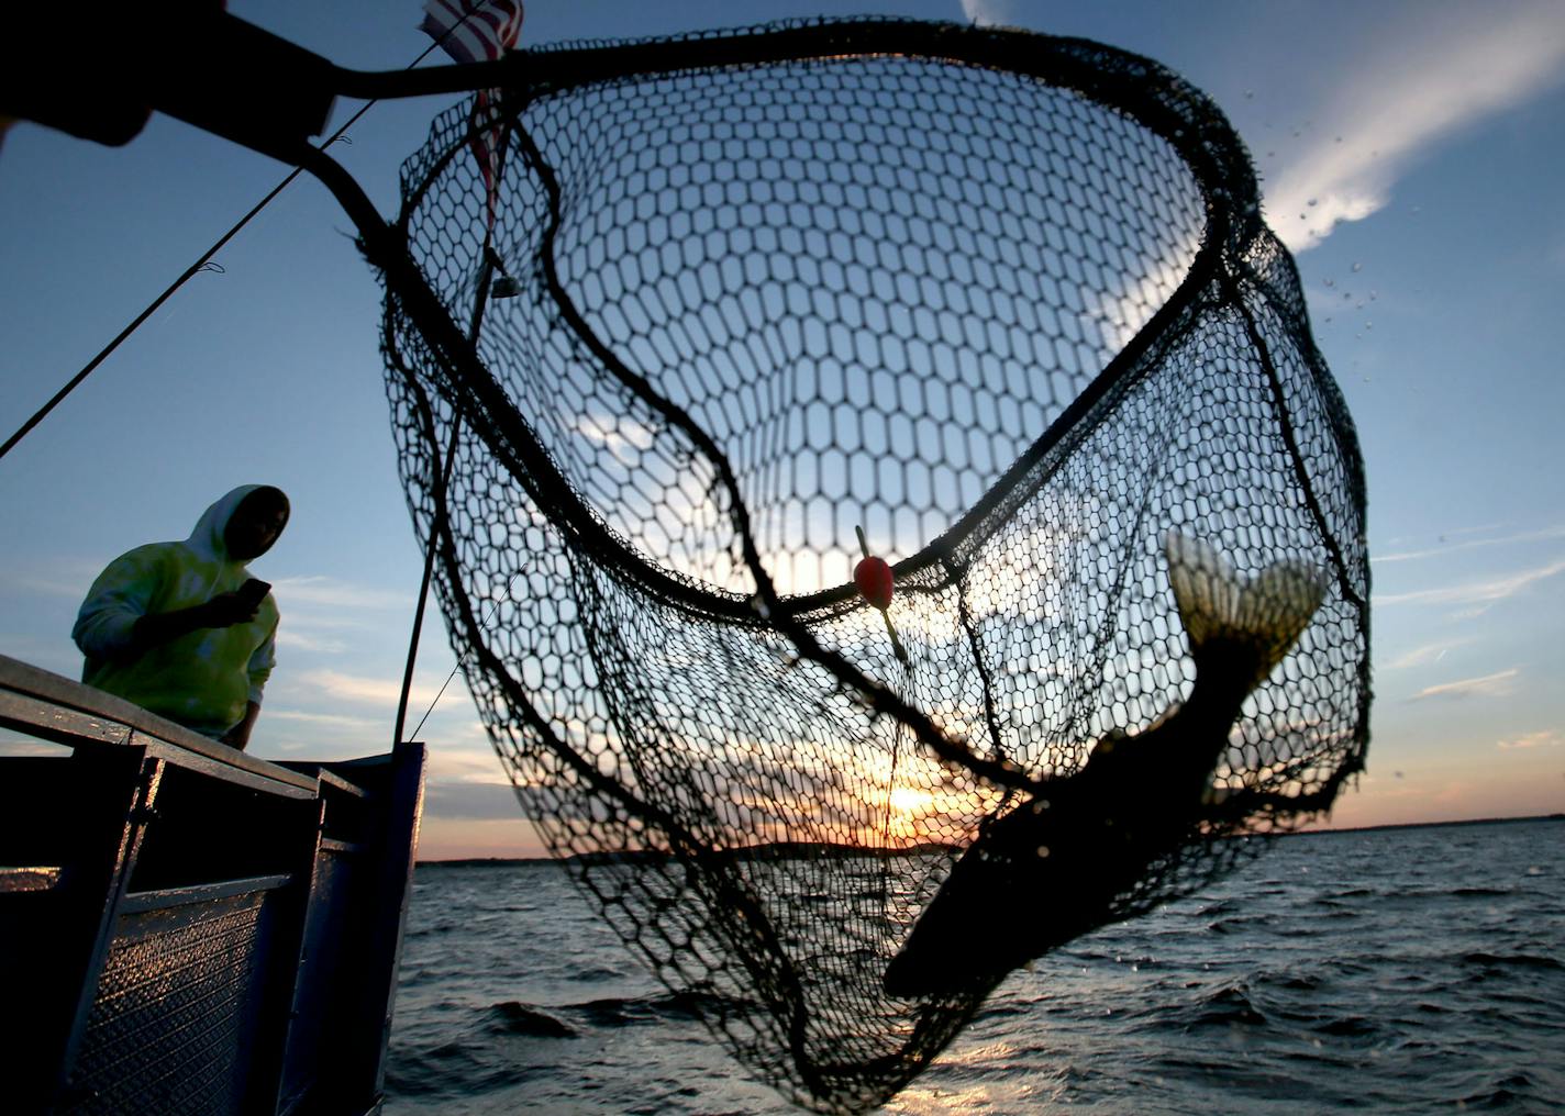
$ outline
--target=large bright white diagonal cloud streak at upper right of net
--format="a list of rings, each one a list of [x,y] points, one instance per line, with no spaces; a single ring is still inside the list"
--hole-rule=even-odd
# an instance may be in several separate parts
[[[1429,147],[1565,74],[1565,8],[1557,3],[1441,11],[1455,17],[1427,20],[1438,27],[1423,41],[1387,39],[1377,56],[1360,61],[1316,111],[1313,133],[1321,138],[1268,186],[1272,227],[1294,252],[1380,210],[1398,174]]]

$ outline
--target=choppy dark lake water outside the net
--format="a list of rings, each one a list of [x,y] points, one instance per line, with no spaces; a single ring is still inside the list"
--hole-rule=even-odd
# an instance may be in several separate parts
[[[1565,1111],[1565,820],[1283,837],[1006,980],[887,1113]],[[415,873],[415,1113],[797,1113],[554,864]]]

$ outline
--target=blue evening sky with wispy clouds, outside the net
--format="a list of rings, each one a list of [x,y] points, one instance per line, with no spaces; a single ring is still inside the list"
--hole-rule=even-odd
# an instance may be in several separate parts
[[[429,41],[415,0],[230,0],[355,69]],[[1229,114],[1293,250],[1369,487],[1369,769],[1327,826],[1565,811],[1565,5],[1526,0],[529,0],[523,45],[779,17],[1025,27],[1147,55]],[[434,63],[435,59],[430,59]],[[222,80],[218,61],[192,80]],[[382,213],[452,97],[372,106],[335,157]],[[340,100],[335,128],[360,102]],[[0,149],[0,437],[286,167],[167,117],[121,149]],[[377,346],[380,290],[324,188],[291,185],[0,460],[0,654],[78,676],[86,587],[235,484],[294,515],[254,563],[280,665],[250,750],[385,751],[421,574]],[[432,614],[410,726],[424,859],[538,855]]]

